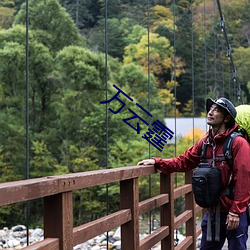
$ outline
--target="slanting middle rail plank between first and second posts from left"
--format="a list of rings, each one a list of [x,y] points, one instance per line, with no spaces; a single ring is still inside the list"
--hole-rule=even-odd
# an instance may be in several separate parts
[[[130,209],[123,209],[73,229],[74,246],[131,221]]]

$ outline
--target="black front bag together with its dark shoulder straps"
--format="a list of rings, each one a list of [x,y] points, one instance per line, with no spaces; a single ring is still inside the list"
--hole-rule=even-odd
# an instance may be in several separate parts
[[[224,157],[217,157],[215,161],[226,160],[230,169],[233,168],[232,143],[241,133],[233,132],[227,138],[223,145]],[[201,162],[198,168],[193,172],[192,187],[195,202],[203,208],[215,207],[219,203],[223,191],[221,188],[221,170],[214,167],[212,163],[205,162],[207,144],[202,144]],[[230,182],[226,188],[227,195],[233,199],[233,185]]]

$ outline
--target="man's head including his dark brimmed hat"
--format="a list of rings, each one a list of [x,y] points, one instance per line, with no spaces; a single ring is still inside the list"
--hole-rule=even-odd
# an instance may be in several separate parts
[[[208,125],[221,126],[225,123],[226,128],[231,128],[235,124],[236,109],[226,98],[208,98],[206,102]]]

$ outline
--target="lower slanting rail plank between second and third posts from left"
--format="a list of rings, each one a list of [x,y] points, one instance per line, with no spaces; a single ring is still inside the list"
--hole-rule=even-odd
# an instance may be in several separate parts
[[[140,250],[151,249],[155,244],[169,235],[169,227],[158,228],[155,232],[140,241]]]

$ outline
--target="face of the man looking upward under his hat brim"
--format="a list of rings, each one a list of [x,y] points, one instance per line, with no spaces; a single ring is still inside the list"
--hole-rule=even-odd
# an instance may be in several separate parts
[[[225,114],[223,109],[220,106],[213,104],[207,113],[207,124],[214,128],[219,127],[221,123],[224,122],[224,119]]]

